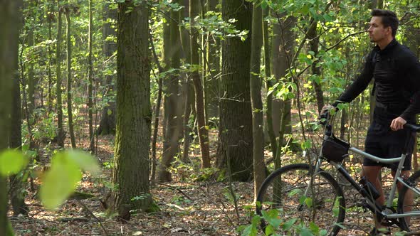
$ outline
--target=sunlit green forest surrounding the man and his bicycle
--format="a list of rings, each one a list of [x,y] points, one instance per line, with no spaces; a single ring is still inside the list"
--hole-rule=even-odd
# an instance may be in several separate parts
[[[319,154],[322,107],[374,47],[372,9],[420,56],[413,0],[0,0],[0,236],[272,235],[261,218],[326,235],[322,217],[256,215],[257,193]],[[359,149],[372,90],[333,124]],[[361,163],[342,165],[356,179]],[[343,189],[340,235],[367,235]]]

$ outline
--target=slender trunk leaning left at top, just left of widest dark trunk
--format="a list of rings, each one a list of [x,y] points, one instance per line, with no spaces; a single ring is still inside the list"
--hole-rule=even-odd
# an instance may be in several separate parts
[[[206,117],[204,115],[204,92],[199,73],[199,44],[197,42],[198,31],[194,30],[194,18],[199,15],[199,2],[189,1],[189,17],[191,18],[191,65],[194,70],[191,72],[192,82],[194,84],[196,101],[196,118],[199,125],[199,142],[201,151],[201,168],[210,168],[209,151],[209,130],[206,127]]]

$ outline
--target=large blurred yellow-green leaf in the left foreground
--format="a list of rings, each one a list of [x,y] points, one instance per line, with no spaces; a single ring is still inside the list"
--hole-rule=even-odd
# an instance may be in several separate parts
[[[53,156],[51,168],[43,178],[40,189],[41,201],[46,208],[53,210],[67,199],[82,178],[77,163],[65,153]]]

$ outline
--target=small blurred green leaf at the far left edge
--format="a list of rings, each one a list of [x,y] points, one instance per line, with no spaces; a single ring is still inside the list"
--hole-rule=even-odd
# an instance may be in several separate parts
[[[0,175],[16,174],[26,166],[27,159],[20,151],[8,149],[0,153]]]

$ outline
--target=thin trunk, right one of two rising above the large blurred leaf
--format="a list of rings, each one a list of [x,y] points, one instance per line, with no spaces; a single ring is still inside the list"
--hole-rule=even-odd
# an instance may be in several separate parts
[[[70,25],[70,9],[65,8],[65,20],[67,22],[67,115],[68,115],[68,132],[70,133],[71,147],[76,148],[76,140],[73,129],[73,109],[71,100],[71,25]]]

